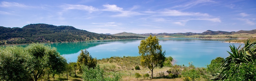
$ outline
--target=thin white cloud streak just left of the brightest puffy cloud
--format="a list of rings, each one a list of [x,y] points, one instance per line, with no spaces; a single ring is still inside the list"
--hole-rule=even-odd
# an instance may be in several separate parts
[[[93,6],[87,6],[87,5],[72,5],[72,4],[66,4],[62,6],[65,10],[85,10],[88,11],[90,13],[94,12],[94,11],[98,11],[97,8],[93,7]]]

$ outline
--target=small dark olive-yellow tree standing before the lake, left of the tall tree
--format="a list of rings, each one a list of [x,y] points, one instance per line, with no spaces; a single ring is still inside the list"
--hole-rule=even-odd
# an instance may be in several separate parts
[[[85,51],[81,50],[81,53],[78,56],[77,59],[77,67],[80,73],[82,73],[81,66],[85,65],[88,66],[89,68],[94,68],[96,67],[97,64],[97,59],[92,58],[90,53],[85,49]]]

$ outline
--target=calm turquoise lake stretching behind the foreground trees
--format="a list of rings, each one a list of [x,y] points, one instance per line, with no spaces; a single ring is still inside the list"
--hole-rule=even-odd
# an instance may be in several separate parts
[[[206,67],[212,59],[229,56],[230,44],[224,40],[230,39],[199,39],[199,38],[159,38],[162,49],[166,50],[166,57],[175,59],[175,64],[189,66],[193,62],[195,67]],[[67,58],[68,62],[76,62],[80,50],[87,49],[90,55],[97,59],[113,56],[139,56],[138,46],[143,39],[126,40],[97,40],[66,43],[48,43],[57,48],[58,52]],[[239,46],[240,43],[234,43]]]

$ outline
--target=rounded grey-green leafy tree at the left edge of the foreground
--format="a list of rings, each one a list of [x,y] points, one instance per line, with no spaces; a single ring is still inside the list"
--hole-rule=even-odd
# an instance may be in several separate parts
[[[3,81],[28,81],[32,77],[33,57],[23,47],[0,47],[0,78]]]

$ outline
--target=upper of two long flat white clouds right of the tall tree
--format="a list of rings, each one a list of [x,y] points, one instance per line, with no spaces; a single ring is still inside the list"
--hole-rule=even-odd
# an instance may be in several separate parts
[[[161,15],[166,16],[209,16],[207,13],[193,13],[193,12],[180,12],[177,10],[165,9],[165,11],[160,12]]]

